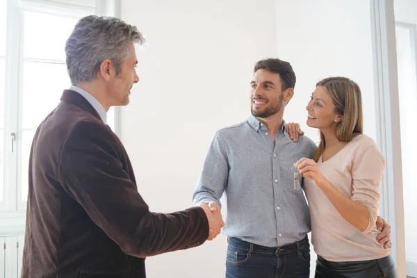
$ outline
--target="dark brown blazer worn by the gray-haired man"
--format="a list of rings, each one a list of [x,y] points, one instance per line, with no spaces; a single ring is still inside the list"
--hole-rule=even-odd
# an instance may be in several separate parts
[[[35,133],[28,188],[24,278],[142,278],[145,257],[208,237],[202,208],[149,211],[122,142],[72,90]]]

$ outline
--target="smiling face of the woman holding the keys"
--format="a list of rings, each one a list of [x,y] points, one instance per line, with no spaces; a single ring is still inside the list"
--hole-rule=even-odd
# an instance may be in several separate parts
[[[307,125],[316,129],[336,129],[342,116],[336,113],[336,106],[324,86],[318,85],[306,106],[308,111]]]

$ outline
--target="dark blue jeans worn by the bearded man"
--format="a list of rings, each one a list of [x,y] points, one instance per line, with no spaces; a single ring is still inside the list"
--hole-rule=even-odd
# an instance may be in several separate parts
[[[265,247],[229,238],[226,278],[309,278],[309,238],[281,247]]]

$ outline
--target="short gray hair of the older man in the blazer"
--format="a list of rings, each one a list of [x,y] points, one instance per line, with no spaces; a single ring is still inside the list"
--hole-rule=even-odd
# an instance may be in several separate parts
[[[106,59],[111,59],[116,74],[120,74],[122,62],[129,56],[129,42],[145,42],[136,26],[115,17],[89,15],[80,19],[65,44],[72,85],[94,80]]]

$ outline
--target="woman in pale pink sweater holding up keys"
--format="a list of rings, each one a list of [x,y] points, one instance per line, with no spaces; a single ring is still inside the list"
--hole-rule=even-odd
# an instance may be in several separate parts
[[[344,77],[318,82],[306,106],[320,130],[313,159],[295,163],[311,214],[316,277],[397,277],[391,249],[376,240],[385,159],[363,134],[361,90]]]

